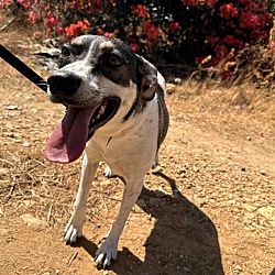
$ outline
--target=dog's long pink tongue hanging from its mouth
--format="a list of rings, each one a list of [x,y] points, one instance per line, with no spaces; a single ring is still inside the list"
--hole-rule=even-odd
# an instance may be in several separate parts
[[[88,125],[97,107],[68,107],[64,119],[55,127],[47,141],[45,158],[52,163],[72,163],[84,152]]]

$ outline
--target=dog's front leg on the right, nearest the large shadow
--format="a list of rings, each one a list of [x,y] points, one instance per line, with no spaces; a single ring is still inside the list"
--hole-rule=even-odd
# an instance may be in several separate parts
[[[127,183],[118,217],[106,235],[101,246],[96,252],[96,264],[98,267],[103,266],[103,268],[106,268],[111,264],[111,260],[117,258],[119,238],[123,231],[131,209],[138,200],[142,186],[143,179]]]

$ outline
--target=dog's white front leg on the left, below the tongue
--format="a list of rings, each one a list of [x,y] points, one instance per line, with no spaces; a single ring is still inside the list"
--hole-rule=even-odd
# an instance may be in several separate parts
[[[96,175],[97,168],[98,163],[89,162],[87,155],[85,154],[81,179],[76,196],[74,211],[65,228],[65,241],[67,243],[76,242],[76,239],[82,235],[89,188]]]

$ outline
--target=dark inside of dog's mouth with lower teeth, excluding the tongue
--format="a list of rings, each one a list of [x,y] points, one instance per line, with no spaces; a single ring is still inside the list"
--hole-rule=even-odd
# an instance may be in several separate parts
[[[120,106],[119,98],[108,98],[103,100],[103,102],[95,110],[91,116],[89,128],[88,140],[92,136],[95,130],[105,125],[108,121],[110,121],[114,114],[117,113]]]

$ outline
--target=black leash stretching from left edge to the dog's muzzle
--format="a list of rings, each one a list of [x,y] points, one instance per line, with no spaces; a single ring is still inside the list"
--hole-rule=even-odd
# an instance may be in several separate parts
[[[47,82],[1,44],[0,57],[4,59],[8,64],[10,64],[19,73],[21,73],[23,76],[25,76],[29,80],[34,82],[42,90],[47,92]]]

